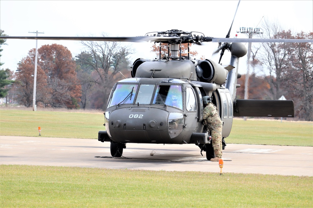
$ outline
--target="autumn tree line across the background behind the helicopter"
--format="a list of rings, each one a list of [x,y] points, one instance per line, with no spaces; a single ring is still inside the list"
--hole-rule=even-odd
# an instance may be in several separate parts
[[[278,24],[265,22],[265,38],[313,39],[312,32],[292,35]],[[0,30],[1,36],[6,36]],[[0,39],[1,45],[5,39]],[[112,86],[123,79],[121,73],[131,77],[128,59],[133,49],[118,42],[81,41],[85,51],[72,57],[71,52],[58,44],[44,45],[38,49],[37,92],[38,107],[69,109],[105,109]],[[159,57],[159,46],[151,51]],[[187,55],[187,45],[182,52]],[[167,55],[167,46],[162,45]],[[190,51],[197,56],[197,51]],[[183,55],[183,56],[184,56]],[[1,56],[1,54],[0,54]],[[201,59],[204,59],[202,56]],[[28,52],[15,72],[0,70],[0,96],[14,100],[19,105],[32,106],[35,49]],[[262,68],[267,73],[249,76],[249,99],[279,99],[282,95],[295,103],[295,117],[313,120],[313,46],[312,43],[263,43],[252,50],[253,69]],[[0,66],[2,63],[0,63]],[[121,72],[121,73],[118,73]],[[244,98],[245,75],[238,80],[238,99]]]

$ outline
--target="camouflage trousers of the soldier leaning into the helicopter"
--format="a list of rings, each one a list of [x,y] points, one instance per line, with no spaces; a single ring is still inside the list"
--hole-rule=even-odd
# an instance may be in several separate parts
[[[222,150],[223,150],[223,145],[222,145],[222,128],[223,128],[223,122],[221,120],[218,120],[216,122],[212,122],[211,125],[208,125],[208,129],[211,131],[211,136],[212,136],[212,146],[214,149],[215,157],[222,158]],[[217,132],[218,131],[218,132]]]

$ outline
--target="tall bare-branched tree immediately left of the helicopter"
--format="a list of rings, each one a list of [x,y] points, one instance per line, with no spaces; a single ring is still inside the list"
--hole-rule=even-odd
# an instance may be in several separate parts
[[[90,96],[93,100],[90,104],[91,108],[105,109],[113,84],[116,79],[121,79],[117,72],[127,71],[129,68],[127,56],[131,54],[131,49],[119,42],[82,41],[81,43],[85,46],[85,53],[89,55],[80,56],[79,61],[94,71],[90,76],[92,79],[85,80],[89,83],[90,90],[93,88],[92,95],[85,96]],[[130,75],[130,72],[128,74]]]

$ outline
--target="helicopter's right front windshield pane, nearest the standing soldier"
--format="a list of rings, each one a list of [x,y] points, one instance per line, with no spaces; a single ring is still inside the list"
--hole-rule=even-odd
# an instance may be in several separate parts
[[[182,86],[158,85],[153,104],[169,105],[182,110]]]

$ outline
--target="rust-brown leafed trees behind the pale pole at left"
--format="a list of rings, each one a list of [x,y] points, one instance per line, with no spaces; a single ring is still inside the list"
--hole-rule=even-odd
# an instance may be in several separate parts
[[[31,106],[35,49],[18,65],[16,92],[20,104]],[[81,86],[71,52],[58,44],[38,49],[36,101],[46,107],[79,108]]]

